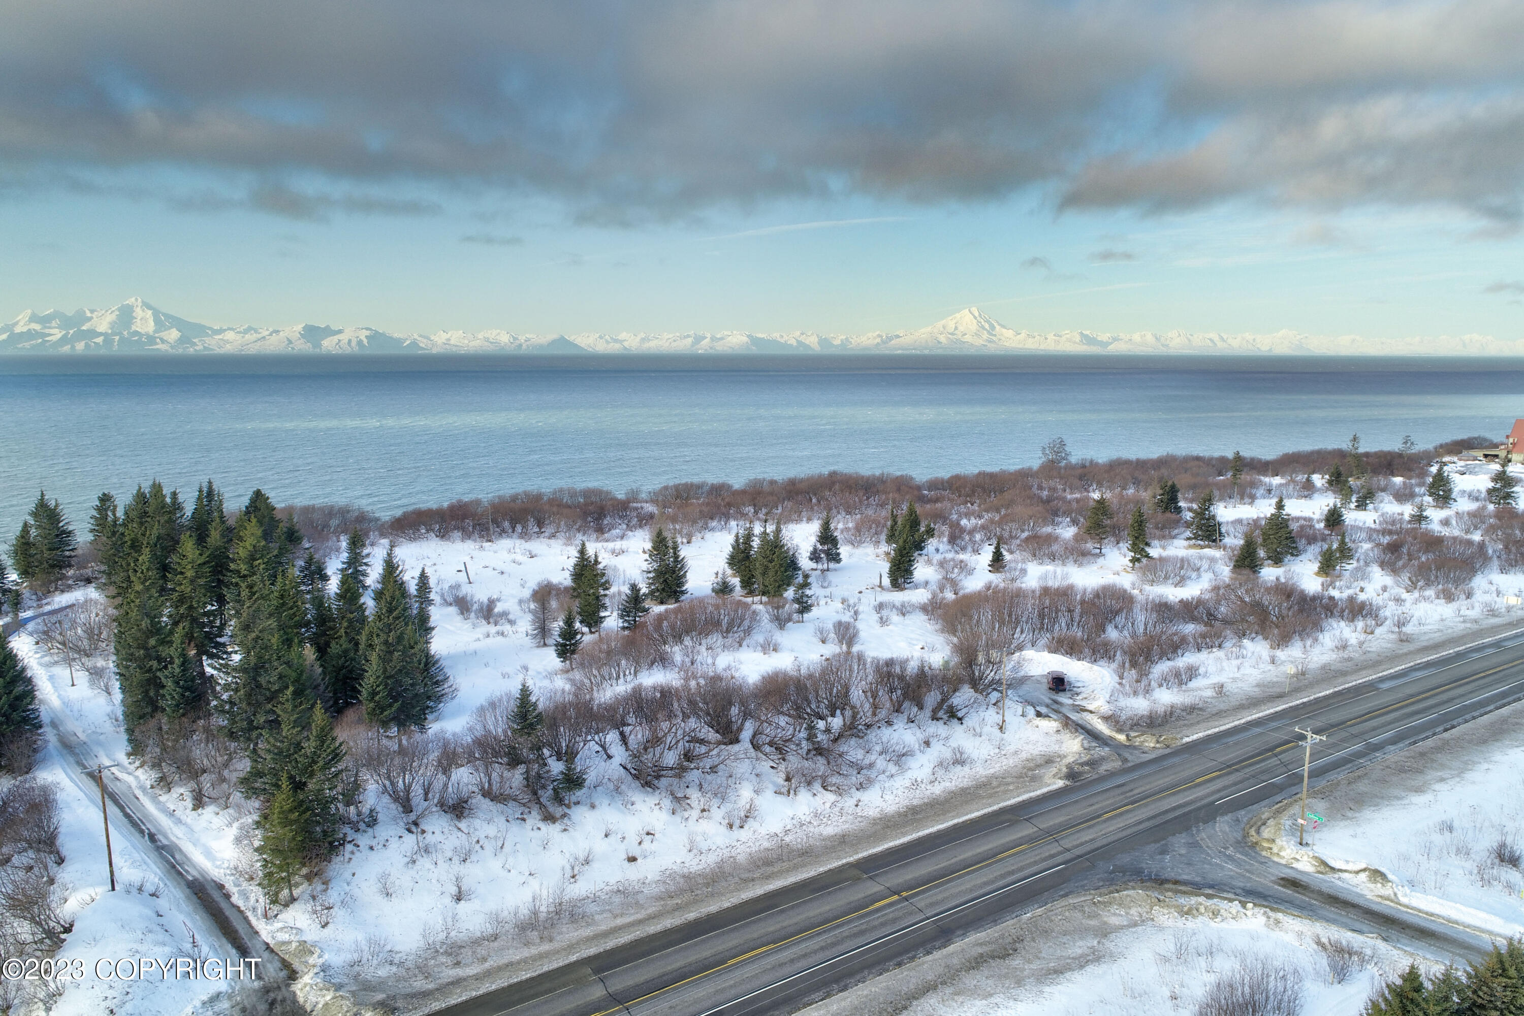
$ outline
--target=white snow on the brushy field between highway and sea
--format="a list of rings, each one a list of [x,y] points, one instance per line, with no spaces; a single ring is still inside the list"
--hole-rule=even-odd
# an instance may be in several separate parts
[[[1458,507],[1431,509],[1431,529],[1439,532],[1451,532],[1446,527],[1454,526],[1457,513],[1477,506],[1475,495],[1486,486],[1490,468],[1463,466],[1457,474]],[[1289,480],[1273,480],[1259,500],[1221,507],[1230,550],[1245,526],[1268,515],[1269,495],[1276,489],[1295,495],[1288,497],[1286,506],[1303,521],[1321,518],[1330,503],[1326,490],[1305,494]],[[1391,522],[1398,512],[1405,512],[1405,506],[1385,495],[1373,512],[1349,512],[1349,532],[1362,558],[1370,558],[1370,551],[1358,545],[1361,535]],[[808,550],[814,529],[814,521],[800,521],[785,527],[785,535]],[[695,594],[707,593],[730,536],[728,530],[707,532],[683,544]],[[642,530],[590,541],[590,548],[608,565],[616,589],[640,577],[648,539]],[[373,561],[381,550],[373,547]],[[436,730],[463,733],[474,710],[494,696],[512,693],[521,679],[541,696],[567,685],[570,675],[553,652],[527,635],[521,600],[539,580],[568,580],[575,539],[415,539],[398,542],[396,551],[410,577],[427,567],[440,594],[434,609],[434,644],[456,682],[457,696],[443,708]],[[879,586],[885,570],[881,544],[843,545],[843,565],[814,576],[820,602],[809,617],[779,629],[760,620],[757,608],[757,631],[745,644],[713,649],[703,664],[751,681],[770,670],[838,652],[826,629],[834,621],[852,621],[858,652],[920,658],[940,666],[951,647],[934,618],[922,609],[928,600],[988,582],[1091,588],[1117,583],[1141,597],[1180,600],[1224,577],[1231,561],[1218,548],[1190,547],[1180,538],[1164,541],[1154,547],[1155,556],[1177,556],[1193,564],[1178,583],[1146,585],[1125,567],[1125,556],[1114,545],[1067,565],[1023,561],[1012,548],[1012,567],[997,577],[988,573],[985,553],[959,554],[933,544],[914,588],[890,591]],[[1309,591],[1362,597],[1375,603],[1375,611],[1353,621],[1330,620],[1321,634],[1283,646],[1245,638],[1186,652],[1155,669],[1155,676],[1167,676],[1164,681],[1119,676],[1114,666],[1047,652],[1045,646],[1015,657],[1012,673],[1020,678],[1062,669],[1076,682],[1084,707],[1126,727],[1149,716],[1151,710],[1222,708],[1224,702],[1247,699],[1256,692],[1279,690],[1282,684],[1303,681],[1301,675],[1318,658],[1378,657],[1423,635],[1503,620],[1513,609],[1506,597],[1524,591],[1524,576],[1497,571],[1454,591],[1410,591],[1372,561],[1356,562],[1346,576],[1321,579],[1312,574],[1315,558],[1317,547],[1305,545],[1300,558],[1283,568],[1266,568],[1263,577],[1294,582]],[[337,571],[337,564],[331,561],[329,570]],[[447,605],[454,594],[475,605],[469,615]],[[486,600],[494,600],[491,609],[482,609]],[[20,635],[17,644],[44,684],[43,698],[50,708],[67,714],[105,757],[134,772],[125,757],[116,701],[84,679],[69,687],[64,661],[41,653],[27,635]],[[1295,675],[1288,676],[1288,666]],[[674,670],[658,669],[636,679],[675,676]],[[1013,695],[1020,699],[1029,687],[1032,684],[1018,679]],[[730,877],[727,873],[744,868],[747,858],[760,856],[770,845],[818,838],[902,812],[917,801],[957,795],[960,788],[974,786],[995,771],[1021,766],[1035,772],[1053,771],[1074,756],[1077,742],[1058,722],[1039,719],[1017,702],[1009,716],[1001,734],[997,730],[998,696],[981,699],[963,690],[956,699],[956,717],[933,717],[916,710],[896,713],[853,739],[846,760],[829,769],[809,757],[762,756],[742,739],[741,745],[721,749],[703,766],[657,789],[640,786],[620,768],[617,745],[611,757],[590,748],[581,759],[590,769],[588,789],[578,794],[570,807],[556,809],[556,821],[514,804],[472,797],[460,816],[436,810],[413,823],[372,791],[375,826],[352,830],[351,845],[329,865],[325,879],[303,888],[297,902],[287,908],[268,906],[253,888],[255,812],[247,801],[233,795],[226,806],[209,801],[197,809],[186,788],[154,786],[143,771],[136,771],[133,778],[142,797],[157,801],[169,816],[181,845],[219,873],[267,937],[317,944],[326,954],[326,970],[343,981],[384,973],[421,958],[437,960],[456,943],[549,934],[555,925],[572,920],[585,900],[607,905],[620,893],[637,893],[661,882],[716,877],[718,899]],[[81,829],[78,835],[84,839],[70,842],[90,842],[88,832]],[[143,922],[134,926],[139,925],[146,928]],[[1141,940],[1137,947],[1154,949]],[[1239,946],[1224,938],[1216,955],[1230,957],[1234,951],[1241,951]]]

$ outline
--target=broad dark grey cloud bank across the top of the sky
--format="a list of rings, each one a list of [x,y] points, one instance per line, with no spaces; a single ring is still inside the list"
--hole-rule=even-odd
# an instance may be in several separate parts
[[[500,187],[608,222],[1030,184],[1521,216],[1512,0],[0,0],[0,23],[12,169]],[[312,201],[248,204],[366,210]]]

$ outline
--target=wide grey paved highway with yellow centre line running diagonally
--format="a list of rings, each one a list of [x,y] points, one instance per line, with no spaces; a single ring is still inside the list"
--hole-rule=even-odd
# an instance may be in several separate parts
[[[1131,850],[1300,789],[1297,727],[1327,736],[1312,752],[1312,780],[1321,781],[1521,698],[1524,638],[1510,635],[928,833],[440,1011],[789,1011],[1073,883],[1094,885]],[[1122,877],[1132,874],[1119,871]]]

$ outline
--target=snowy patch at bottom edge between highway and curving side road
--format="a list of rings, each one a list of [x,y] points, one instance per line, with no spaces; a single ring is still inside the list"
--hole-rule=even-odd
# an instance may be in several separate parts
[[[1128,890],[1070,897],[805,1010],[806,1016],[1132,1016],[1195,1013],[1265,984],[1286,1008],[1355,1016],[1413,957],[1329,925],[1233,900]],[[1430,966],[1430,964],[1425,964]]]

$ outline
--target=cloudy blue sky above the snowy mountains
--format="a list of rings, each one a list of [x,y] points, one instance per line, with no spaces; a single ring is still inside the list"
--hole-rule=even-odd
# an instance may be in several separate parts
[[[1524,335],[1515,0],[0,11],[0,317]]]

